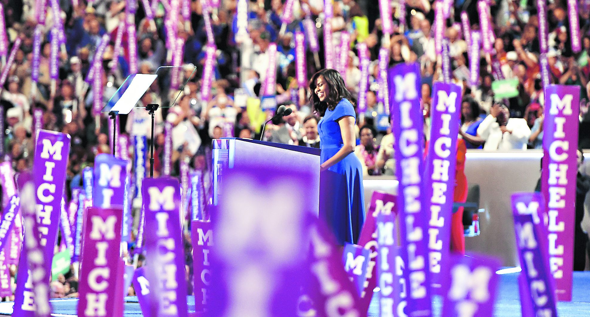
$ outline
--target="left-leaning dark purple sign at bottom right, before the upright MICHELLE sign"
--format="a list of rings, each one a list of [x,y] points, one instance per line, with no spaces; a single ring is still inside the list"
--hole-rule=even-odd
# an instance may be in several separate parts
[[[512,194],[514,231],[519,260],[526,283],[521,293],[527,296],[522,305],[530,305],[527,311],[535,316],[558,316],[555,301],[555,285],[549,269],[549,250],[546,249],[547,233],[542,223],[533,219],[542,214],[543,196],[540,193]]]

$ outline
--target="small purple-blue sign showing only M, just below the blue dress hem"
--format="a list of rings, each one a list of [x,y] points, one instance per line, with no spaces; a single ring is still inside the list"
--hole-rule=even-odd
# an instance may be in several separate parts
[[[370,254],[371,250],[359,245],[353,245],[347,242],[344,246],[344,252],[342,254],[344,270],[348,274],[350,282],[356,286],[356,290],[358,290],[357,295],[359,296],[365,288],[368,265],[371,262],[369,258]]]

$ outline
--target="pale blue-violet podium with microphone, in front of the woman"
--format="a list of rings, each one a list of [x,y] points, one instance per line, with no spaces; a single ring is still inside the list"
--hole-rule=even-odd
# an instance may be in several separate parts
[[[320,149],[291,146],[289,144],[250,140],[245,138],[219,138],[213,140],[212,150],[212,205],[218,206],[221,183],[232,169],[257,166],[269,173],[306,174],[300,180],[305,189],[304,209],[319,213]],[[288,195],[289,193],[284,193]]]

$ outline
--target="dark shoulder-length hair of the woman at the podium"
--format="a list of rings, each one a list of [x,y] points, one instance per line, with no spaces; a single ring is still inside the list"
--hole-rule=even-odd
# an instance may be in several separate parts
[[[324,101],[320,101],[320,98],[316,95],[316,82],[317,78],[322,76],[324,78],[324,84],[327,85],[327,95]],[[334,110],[336,105],[342,99],[348,99],[353,105],[356,104],[355,98],[352,96],[350,91],[346,89],[344,80],[340,73],[332,68],[324,68],[319,72],[316,72],[312,76],[312,80],[309,81],[310,89],[310,102],[313,105],[313,111],[318,113],[321,117],[326,114],[326,110]]]

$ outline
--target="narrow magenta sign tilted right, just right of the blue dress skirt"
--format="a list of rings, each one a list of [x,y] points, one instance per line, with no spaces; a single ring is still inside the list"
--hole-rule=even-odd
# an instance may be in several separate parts
[[[373,191],[367,217],[365,223],[363,224],[363,228],[360,231],[359,245],[371,251],[371,253],[369,253],[369,263],[367,265],[365,283],[363,285],[362,292],[360,292],[359,312],[363,314],[368,311],[369,303],[371,303],[371,299],[373,298],[373,289],[375,289],[377,286],[378,276],[375,268],[375,265],[377,265],[377,255],[379,252],[379,247],[377,245],[377,217],[380,214],[389,215],[394,213],[393,217],[395,218],[395,214],[397,213],[397,209],[395,209],[395,202],[396,197],[394,195],[383,193],[381,191]],[[389,232],[383,233],[389,234]],[[389,272],[394,271],[390,270]],[[387,305],[387,303],[388,302],[385,301],[384,305]]]

